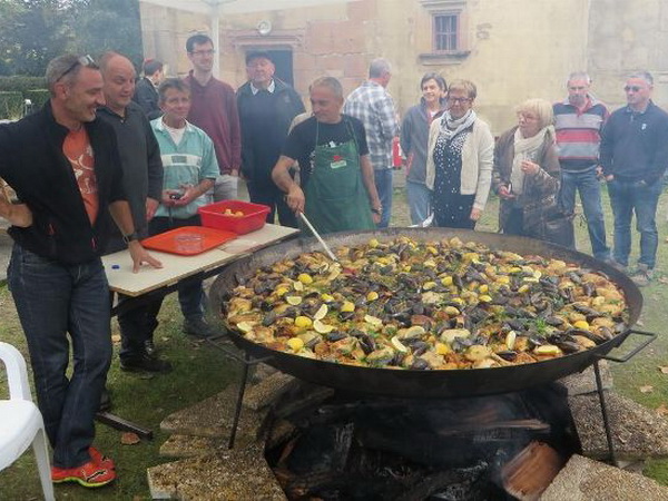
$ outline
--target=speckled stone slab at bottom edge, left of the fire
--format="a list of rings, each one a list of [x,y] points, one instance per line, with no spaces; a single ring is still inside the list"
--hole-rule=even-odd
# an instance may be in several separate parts
[[[262,446],[160,464],[147,470],[151,499],[184,501],[286,500]]]

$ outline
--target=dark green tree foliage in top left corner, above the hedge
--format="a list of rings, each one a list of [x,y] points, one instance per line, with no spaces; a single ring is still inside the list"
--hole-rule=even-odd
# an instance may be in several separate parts
[[[0,0],[0,75],[42,76],[66,53],[143,59],[138,0]]]

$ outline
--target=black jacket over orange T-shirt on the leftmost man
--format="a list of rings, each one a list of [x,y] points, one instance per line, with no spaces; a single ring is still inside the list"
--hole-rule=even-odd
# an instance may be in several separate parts
[[[68,129],[53,118],[47,101],[37,114],[0,126],[0,177],[32,212],[32,226],[12,226],[21,247],[65,264],[100,255],[110,216],[109,203],[125,199],[114,129],[99,119],[85,124],[95,155],[99,209],[88,219],[72,167],[62,153]]]

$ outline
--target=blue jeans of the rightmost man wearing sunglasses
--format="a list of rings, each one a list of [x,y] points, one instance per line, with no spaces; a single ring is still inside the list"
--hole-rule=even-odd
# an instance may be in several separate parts
[[[636,229],[640,233],[640,257],[638,263],[654,268],[659,245],[656,214],[661,181],[647,185],[645,181],[608,181],[610,205],[615,215],[615,261],[623,266],[629,264],[631,252],[631,218],[636,214]]]

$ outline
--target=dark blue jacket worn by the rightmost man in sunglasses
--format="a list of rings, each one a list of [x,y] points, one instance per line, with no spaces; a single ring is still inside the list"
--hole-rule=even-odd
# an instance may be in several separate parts
[[[668,114],[651,101],[641,114],[616,110],[601,131],[600,164],[619,180],[659,180],[668,166]]]

